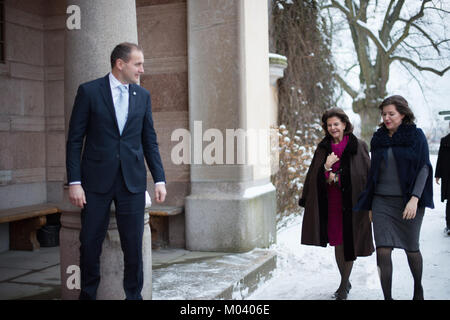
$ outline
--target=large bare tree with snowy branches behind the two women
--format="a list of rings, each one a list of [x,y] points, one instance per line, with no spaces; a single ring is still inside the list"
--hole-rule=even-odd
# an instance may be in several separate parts
[[[445,23],[450,12],[442,1],[328,0],[322,1],[321,9],[328,13],[330,25],[335,23],[337,10],[350,30],[357,60],[352,68],[359,68],[359,88],[354,88],[343,74],[336,72],[334,78],[353,99],[352,108],[361,118],[361,136],[366,141],[379,122],[377,106],[387,95],[394,62],[399,62],[419,85],[417,72],[442,76],[450,69],[450,39]],[[369,18],[380,14],[376,34],[374,20]]]

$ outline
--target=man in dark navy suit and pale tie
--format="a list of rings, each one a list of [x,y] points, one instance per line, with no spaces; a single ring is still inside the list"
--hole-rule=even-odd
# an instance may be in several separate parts
[[[75,98],[66,166],[70,201],[82,208],[80,299],[96,298],[112,201],[124,253],[125,295],[127,299],[142,299],[147,189],[144,158],[155,181],[156,202],[166,197],[150,94],[137,85],[143,64],[138,45],[121,43],[111,53],[112,71],[80,85]]]

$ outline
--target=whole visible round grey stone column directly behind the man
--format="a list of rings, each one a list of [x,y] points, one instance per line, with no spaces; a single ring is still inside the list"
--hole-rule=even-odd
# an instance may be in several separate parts
[[[78,6],[81,13],[80,29],[66,29],[64,64],[65,130],[68,124],[78,86],[86,81],[105,76],[110,70],[110,54],[120,42],[137,43],[135,0],[67,0],[67,6]],[[64,192],[60,232],[62,299],[77,299],[79,272],[80,210],[68,200]],[[113,211],[112,211],[113,213]],[[147,217],[148,222],[148,217]],[[98,299],[123,299],[123,254],[114,214],[103,243],[101,256],[101,283]],[[151,236],[148,223],[144,231],[144,299],[151,299]]]

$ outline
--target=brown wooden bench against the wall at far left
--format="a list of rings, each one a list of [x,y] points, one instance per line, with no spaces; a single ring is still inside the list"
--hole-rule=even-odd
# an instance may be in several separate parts
[[[0,210],[0,223],[9,222],[10,250],[40,248],[36,231],[47,222],[46,216],[60,210],[51,203]]]

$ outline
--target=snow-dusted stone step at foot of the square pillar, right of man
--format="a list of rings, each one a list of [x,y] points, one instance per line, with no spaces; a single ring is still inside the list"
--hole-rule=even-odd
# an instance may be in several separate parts
[[[266,249],[235,254],[189,252],[153,269],[153,300],[245,299],[275,268],[276,254]]]

